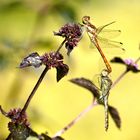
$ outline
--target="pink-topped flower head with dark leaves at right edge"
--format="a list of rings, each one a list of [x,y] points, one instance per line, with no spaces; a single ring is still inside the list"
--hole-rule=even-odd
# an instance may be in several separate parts
[[[111,60],[112,63],[120,63],[120,64],[124,64],[126,66],[126,70],[127,71],[132,71],[134,73],[140,72],[140,68],[137,64],[137,61],[134,61],[133,59],[122,59],[120,57],[114,57]]]

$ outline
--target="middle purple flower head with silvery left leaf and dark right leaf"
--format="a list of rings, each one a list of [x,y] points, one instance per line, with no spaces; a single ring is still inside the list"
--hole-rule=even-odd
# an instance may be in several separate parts
[[[63,56],[59,52],[45,53],[40,56],[37,52],[29,54],[20,63],[20,68],[34,66],[35,68],[40,67],[44,64],[48,69],[56,68],[57,70],[57,81],[63,78],[69,71],[68,65],[63,63]]]

